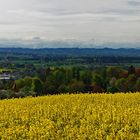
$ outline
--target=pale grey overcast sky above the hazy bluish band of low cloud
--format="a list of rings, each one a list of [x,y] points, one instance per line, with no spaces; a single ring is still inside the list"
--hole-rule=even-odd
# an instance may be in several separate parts
[[[0,0],[0,38],[140,42],[140,0]]]

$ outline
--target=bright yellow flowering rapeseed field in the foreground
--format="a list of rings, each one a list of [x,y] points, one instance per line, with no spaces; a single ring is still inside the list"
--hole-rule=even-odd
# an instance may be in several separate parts
[[[140,94],[2,100],[0,139],[139,140]]]

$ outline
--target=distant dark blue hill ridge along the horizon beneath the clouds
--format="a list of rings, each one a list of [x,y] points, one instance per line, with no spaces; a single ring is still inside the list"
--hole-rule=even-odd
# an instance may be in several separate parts
[[[9,54],[46,54],[49,56],[115,56],[140,57],[140,49],[134,48],[0,48],[0,53]]]

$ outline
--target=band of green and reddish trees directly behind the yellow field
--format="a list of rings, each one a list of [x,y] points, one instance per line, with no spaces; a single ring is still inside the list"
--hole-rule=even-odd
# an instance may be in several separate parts
[[[0,98],[65,93],[140,91],[140,68],[39,68],[34,76],[0,82]]]

